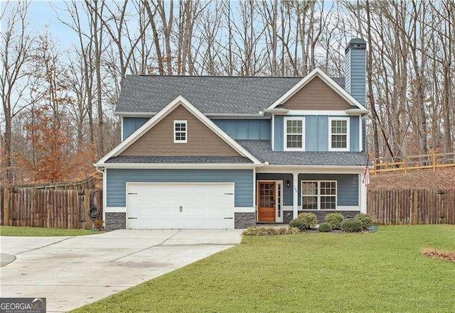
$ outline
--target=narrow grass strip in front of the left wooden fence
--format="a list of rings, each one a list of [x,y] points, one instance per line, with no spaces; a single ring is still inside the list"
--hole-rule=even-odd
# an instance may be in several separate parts
[[[45,227],[0,226],[0,236],[82,236],[99,232],[86,229],[47,229]]]

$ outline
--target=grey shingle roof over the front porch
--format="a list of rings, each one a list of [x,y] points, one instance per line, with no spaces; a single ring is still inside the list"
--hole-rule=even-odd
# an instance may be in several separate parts
[[[274,165],[366,165],[363,152],[272,151],[270,141],[237,141],[261,162]]]

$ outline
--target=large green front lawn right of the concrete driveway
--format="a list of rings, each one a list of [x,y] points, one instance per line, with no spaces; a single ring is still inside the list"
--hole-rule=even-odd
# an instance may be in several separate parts
[[[74,312],[454,312],[455,226],[244,237],[239,246]]]

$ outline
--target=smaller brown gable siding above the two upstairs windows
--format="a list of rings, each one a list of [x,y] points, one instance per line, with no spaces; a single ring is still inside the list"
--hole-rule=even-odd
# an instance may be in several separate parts
[[[282,106],[290,110],[346,110],[350,104],[316,76]]]

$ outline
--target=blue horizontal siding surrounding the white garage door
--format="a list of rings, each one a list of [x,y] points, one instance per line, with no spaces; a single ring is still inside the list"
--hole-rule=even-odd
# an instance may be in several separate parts
[[[107,169],[107,207],[126,206],[127,182],[234,182],[235,207],[253,205],[252,170]]]

